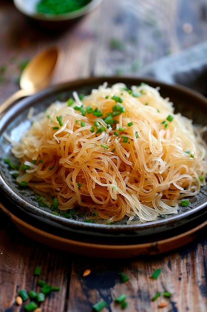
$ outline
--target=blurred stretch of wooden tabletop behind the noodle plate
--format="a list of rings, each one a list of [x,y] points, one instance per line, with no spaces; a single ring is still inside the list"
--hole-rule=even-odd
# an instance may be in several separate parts
[[[49,45],[61,50],[52,80],[61,83],[137,76],[145,65],[206,40],[206,0],[102,0],[81,18],[53,25],[0,0],[0,99],[18,90],[24,66]]]

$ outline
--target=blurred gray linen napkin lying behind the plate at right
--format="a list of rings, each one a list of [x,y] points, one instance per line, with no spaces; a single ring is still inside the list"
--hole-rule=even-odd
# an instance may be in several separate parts
[[[144,66],[138,75],[178,83],[207,96],[207,42]]]

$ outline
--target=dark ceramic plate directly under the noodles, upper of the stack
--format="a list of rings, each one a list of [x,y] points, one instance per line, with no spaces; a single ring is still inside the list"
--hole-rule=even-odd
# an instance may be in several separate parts
[[[183,227],[193,227],[198,218],[203,220],[207,217],[207,187],[203,187],[201,192],[190,198],[188,207],[180,207],[178,214],[168,215],[165,219],[158,219],[138,225],[127,225],[123,220],[118,225],[101,225],[84,222],[84,216],[76,219],[67,219],[62,216],[51,214],[47,208],[38,206],[37,195],[29,189],[20,189],[15,180],[9,174],[8,166],[3,158],[10,157],[10,144],[5,140],[5,133],[13,140],[18,140],[20,133],[27,129],[30,123],[26,116],[30,107],[35,108],[35,114],[44,110],[56,99],[67,100],[72,91],[89,94],[92,88],[97,88],[107,81],[109,86],[116,82],[124,82],[128,87],[146,82],[152,87],[160,87],[163,97],[169,97],[174,103],[176,112],[193,119],[195,124],[206,125],[207,120],[207,99],[202,95],[181,86],[170,86],[148,78],[126,78],[126,77],[100,77],[81,79],[58,86],[49,87],[38,94],[25,98],[3,113],[0,119],[0,190],[2,201],[5,207],[12,207],[12,213],[22,215],[22,218],[29,218],[29,222],[34,222],[36,226],[48,226],[54,231],[64,233],[63,235],[84,235],[85,237],[96,237],[96,239],[132,239],[132,243],[137,240],[150,240],[154,235],[164,235],[167,237],[173,232],[179,233]],[[33,221],[32,221],[33,220]]]

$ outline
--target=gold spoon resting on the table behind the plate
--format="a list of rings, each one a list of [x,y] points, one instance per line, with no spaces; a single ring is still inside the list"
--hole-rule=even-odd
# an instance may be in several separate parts
[[[58,60],[58,48],[49,47],[38,53],[22,71],[20,90],[0,105],[0,114],[16,100],[44,89],[50,82]]]

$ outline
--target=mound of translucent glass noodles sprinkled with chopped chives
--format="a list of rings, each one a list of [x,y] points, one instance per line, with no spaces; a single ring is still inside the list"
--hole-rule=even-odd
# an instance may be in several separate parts
[[[156,220],[200,191],[206,144],[158,89],[104,84],[73,97],[36,116],[14,143],[21,168],[29,166],[17,182],[55,196],[61,210],[89,208],[98,223]]]

